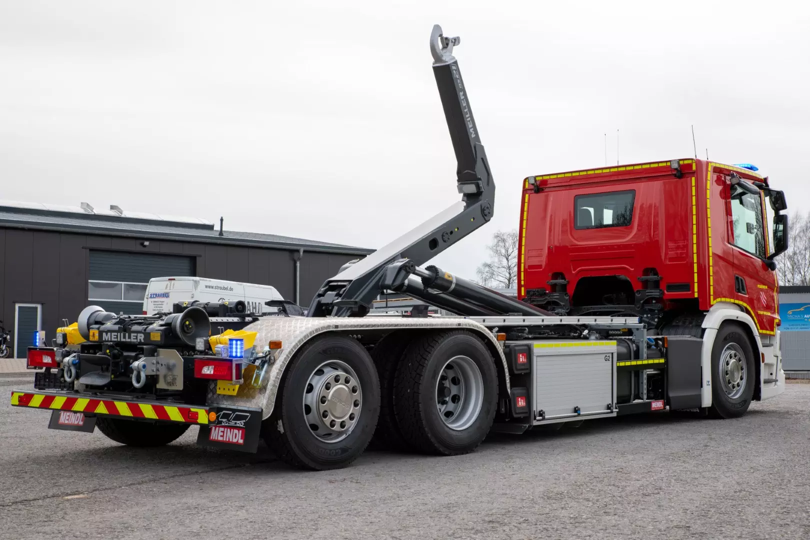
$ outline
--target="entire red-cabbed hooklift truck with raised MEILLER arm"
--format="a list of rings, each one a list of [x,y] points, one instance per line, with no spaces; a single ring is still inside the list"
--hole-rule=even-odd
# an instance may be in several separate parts
[[[261,437],[292,466],[326,470],[375,435],[457,455],[490,430],[667,408],[732,418],[782,393],[773,259],[787,248],[786,205],[752,168],[674,159],[530,176],[519,299],[422,266],[494,209],[458,42],[433,28],[461,201],[344,266],[306,317],[89,306],[79,351],[62,334],[29,348],[28,365],[45,370],[11,404],[51,410],[49,427],[99,427],[134,446],[168,444],[192,425],[198,444],[217,448],[255,452]],[[458,317],[369,315],[382,291]]]

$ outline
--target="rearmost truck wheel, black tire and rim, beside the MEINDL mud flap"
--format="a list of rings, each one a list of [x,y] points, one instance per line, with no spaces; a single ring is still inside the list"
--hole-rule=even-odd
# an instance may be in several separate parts
[[[380,383],[369,352],[355,339],[323,336],[287,368],[262,437],[299,469],[339,469],[369,445],[380,413]]]

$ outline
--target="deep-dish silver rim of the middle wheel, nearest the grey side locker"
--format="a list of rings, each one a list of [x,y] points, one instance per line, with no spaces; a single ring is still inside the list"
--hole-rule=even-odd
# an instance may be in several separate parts
[[[454,431],[470,427],[484,406],[484,377],[468,356],[454,356],[436,381],[439,418]]]

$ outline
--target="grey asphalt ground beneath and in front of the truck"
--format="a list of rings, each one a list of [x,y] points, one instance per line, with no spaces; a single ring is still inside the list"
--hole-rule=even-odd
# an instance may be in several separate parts
[[[460,457],[369,451],[291,470],[47,429],[0,379],[0,538],[810,538],[810,385],[735,420],[667,412],[491,436]]]

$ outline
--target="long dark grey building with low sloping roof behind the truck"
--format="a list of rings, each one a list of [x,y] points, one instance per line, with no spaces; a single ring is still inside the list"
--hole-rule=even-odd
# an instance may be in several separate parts
[[[141,313],[151,278],[272,285],[285,299],[308,305],[340,266],[372,251],[254,232],[220,234],[203,219],[117,206],[0,202],[0,319],[12,353],[23,358],[35,330],[53,338],[62,319],[75,321],[88,304]]]

